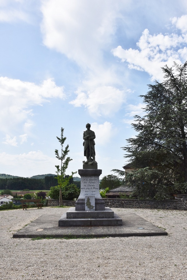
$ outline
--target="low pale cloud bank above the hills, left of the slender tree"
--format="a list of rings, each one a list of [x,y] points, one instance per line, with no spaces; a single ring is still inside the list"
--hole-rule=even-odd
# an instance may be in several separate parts
[[[17,176],[32,176],[54,172],[56,159],[51,158],[41,151],[31,151],[23,154],[0,153],[0,168],[2,171]]]

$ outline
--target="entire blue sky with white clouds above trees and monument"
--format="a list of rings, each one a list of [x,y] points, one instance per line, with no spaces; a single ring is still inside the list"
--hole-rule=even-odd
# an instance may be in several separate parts
[[[139,95],[187,60],[187,2],[0,0],[0,38],[0,173],[55,173],[61,127],[78,171],[89,122],[102,178],[127,162]]]

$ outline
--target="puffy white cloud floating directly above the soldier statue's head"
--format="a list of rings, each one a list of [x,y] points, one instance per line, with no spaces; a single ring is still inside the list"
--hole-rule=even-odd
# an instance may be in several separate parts
[[[89,113],[94,115],[110,116],[116,113],[125,99],[124,91],[112,86],[101,86],[91,91],[76,91],[77,98],[70,103],[75,107],[84,105]]]

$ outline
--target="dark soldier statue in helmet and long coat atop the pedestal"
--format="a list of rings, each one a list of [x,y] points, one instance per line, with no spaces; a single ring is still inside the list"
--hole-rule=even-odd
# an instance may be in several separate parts
[[[83,146],[84,146],[84,156],[86,156],[87,161],[83,161],[84,164],[97,164],[95,161],[95,133],[90,129],[91,125],[86,124],[87,130],[83,133]]]

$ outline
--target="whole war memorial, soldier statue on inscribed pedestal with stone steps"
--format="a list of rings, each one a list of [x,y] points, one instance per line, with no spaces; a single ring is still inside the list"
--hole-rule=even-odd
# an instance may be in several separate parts
[[[122,219],[109,207],[105,207],[99,193],[99,176],[95,161],[95,133],[86,124],[83,133],[84,156],[83,169],[79,169],[81,178],[80,195],[74,208],[70,208],[59,220],[59,226],[122,226]]]

